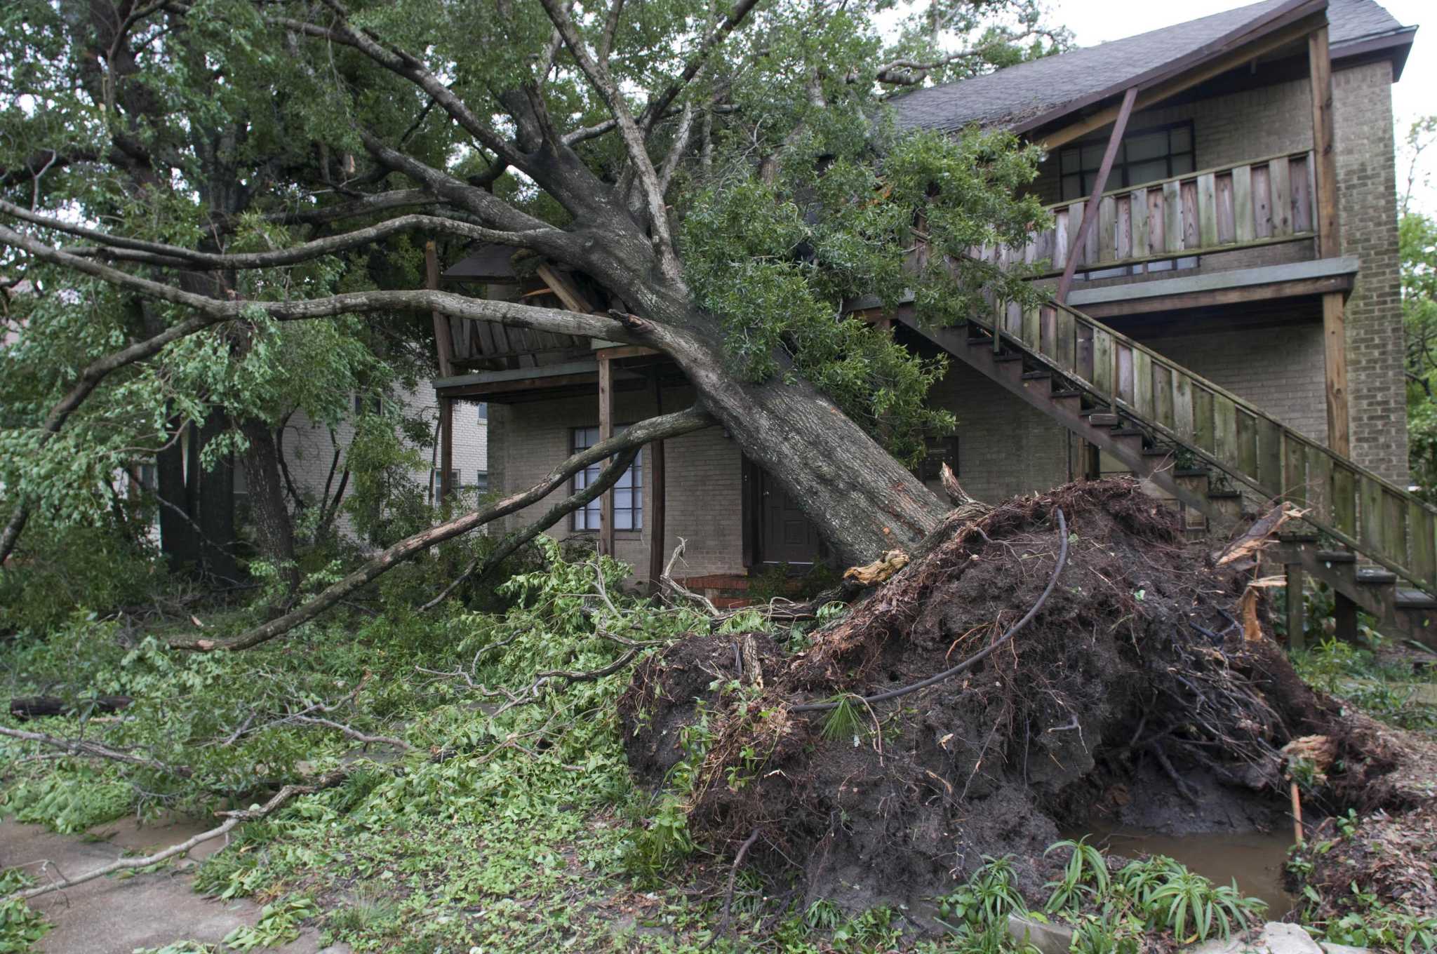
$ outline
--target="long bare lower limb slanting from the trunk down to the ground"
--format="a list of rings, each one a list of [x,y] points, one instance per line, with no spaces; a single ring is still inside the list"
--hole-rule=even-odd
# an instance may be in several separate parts
[[[282,636],[295,626],[308,622],[329,609],[341,599],[378,579],[384,573],[389,572],[404,560],[410,559],[415,553],[420,553],[437,543],[444,540],[451,540],[460,534],[468,533],[474,527],[480,527],[486,523],[497,520],[499,517],[522,510],[533,503],[537,503],[546,497],[550,491],[559,487],[565,480],[583,470],[591,464],[596,464],[601,460],[616,454],[619,451],[628,451],[629,448],[642,447],[644,444],[655,440],[664,440],[670,437],[677,437],[680,434],[688,434],[690,431],[697,431],[713,424],[713,418],[707,412],[691,408],[688,411],[681,411],[678,414],[665,414],[662,417],[650,418],[624,431],[624,434],[615,435],[606,441],[595,444],[593,447],[573,454],[566,461],[555,467],[549,474],[540,480],[537,484],[517,494],[512,494],[499,500],[487,507],[479,510],[471,510],[463,516],[453,520],[447,520],[437,526],[430,527],[421,533],[405,537],[394,546],[385,549],[378,556],[372,557],[368,563],[361,566],[358,570],[343,578],[342,580],[332,583],[315,599],[309,601],[297,609],[273,619],[267,624],[256,626],[249,632],[226,641],[218,642],[214,639],[195,639],[190,642],[171,642],[170,647],[175,649],[198,649],[201,652],[211,652],[216,649],[249,649],[257,647],[262,642]],[[622,473],[619,470],[618,473]],[[618,474],[614,477],[618,480]],[[591,487],[586,487],[581,494],[575,497],[583,497],[591,488],[592,496],[598,496],[604,491],[602,481],[595,481]],[[592,497],[591,497],[592,499]],[[582,503],[588,503],[583,500]],[[582,503],[579,506],[582,506]],[[552,513],[552,511],[550,511]]]

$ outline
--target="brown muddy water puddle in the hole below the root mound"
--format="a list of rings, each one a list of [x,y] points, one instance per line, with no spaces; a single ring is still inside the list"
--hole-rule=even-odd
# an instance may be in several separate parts
[[[1167,855],[1217,884],[1226,885],[1236,878],[1239,891],[1267,902],[1269,921],[1280,920],[1296,904],[1282,888],[1283,865],[1292,846],[1290,832],[1157,835],[1142,829],[1111,828],[1086,833],[1089,842],[1115,855]]]

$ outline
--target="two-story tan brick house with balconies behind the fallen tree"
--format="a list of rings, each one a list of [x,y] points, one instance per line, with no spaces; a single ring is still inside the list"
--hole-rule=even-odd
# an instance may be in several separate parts
[[[992,501],[1135,471],[1194,524],[1239,491],[1286,494],[1332,539],[1433,591],[1437,524],[1403,493],[1391,85],[1414,33],[1372,0],[1265,0],[894,99],[902,126],[1006,128],[1040,144],[1033,190],[1055,216],[1026,247],[973,250],[1048,261],[1036,280],[1052,307],[996,305],[935,332],[911,307],[852,303],[908,346],[951,355],[931,399],[958,428],[923,476],[947,461]],[[586,305],[569,300],[582,276],[523,282],[506,249],[473,250],[444,280]],[[435,391],[489,402],[502,488],[593,443],[601,399],[619,427],[688,401],[680,372],[647,349],[479,322],[437,330]],[[553,533],[593,533],[639,576],[683,537],[685,575],[710,588],[821,559],[802,511],[721,430],[662,454],[647,448],[612,491],[611,524],[595,501]],[[1359,595],[1352,573],[1341,589]]]

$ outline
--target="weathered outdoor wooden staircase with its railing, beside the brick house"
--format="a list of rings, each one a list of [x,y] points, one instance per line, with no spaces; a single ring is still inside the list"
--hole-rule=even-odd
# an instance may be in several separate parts
[[[1355,635],[1361,608],[1378,631],[1437,648],[1437,510],[1404,488],[1066,306],[956,328],[898,318],[1175,499],[1188,527],[1230,529],[1243,488],[1303,509],[1302,533],[1270,559],[1334,591],[1339,634]]]

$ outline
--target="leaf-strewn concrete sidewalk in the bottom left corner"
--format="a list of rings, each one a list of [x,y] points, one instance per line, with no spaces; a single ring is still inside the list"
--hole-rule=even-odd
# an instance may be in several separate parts
[[[172,823],[137,828],[116,823],[96,830],[109,840],[82,840],[55,835],[40,825],[0,822],[0,866],[24,868],[37,884],[59,874],[76,876],[119,858],[125,849],[149,853],[195,835],[201,828]],[[218,851],[224,839],[207,842],[193,855]],[[40,940],[47,954],[131,954],[139,947],[164,947],[175,941],[218,944],[237,927],[254,924],[260,905],[251,901],[211,901],[191,889],[191,868],[198,858],[155,874],[96,878],[66,891],[42,895],[30,902],[55,930]],[[319,935],[306,928],[297,940],[276,948],[285,954],[316,954]],[[348,947],[326,948],[329,954]]]

